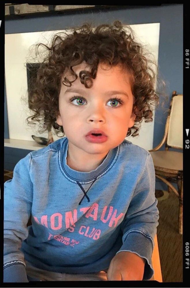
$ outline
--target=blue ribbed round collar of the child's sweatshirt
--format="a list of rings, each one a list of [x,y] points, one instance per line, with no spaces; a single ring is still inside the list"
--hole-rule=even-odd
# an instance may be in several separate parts
[[[91,183],[95,178],[99,178],[108,172],[117,160],[120,145],[111,149],[104,161],[95,169],[90,172],[80,172],[71,169],[67,165],[67,151],[68,151],[68,138],[64,137],[59,151],[59,163],[60,169],[66,178],[69,178],[72,182],[80,182],[81,184]],[[85,164],[84,164],[85,165]]]

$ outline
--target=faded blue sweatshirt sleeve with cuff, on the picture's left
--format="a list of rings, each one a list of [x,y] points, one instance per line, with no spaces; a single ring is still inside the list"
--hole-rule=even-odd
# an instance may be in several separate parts
[[[3,282],[29,282],[21,243],[28,237],[33,184],[30,153],[15,166],[13,178],[4,184]]]

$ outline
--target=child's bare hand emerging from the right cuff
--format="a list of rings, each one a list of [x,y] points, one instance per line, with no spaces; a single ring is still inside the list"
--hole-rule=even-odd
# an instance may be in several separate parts
[[[107,272],[108,281],[113,280],[142,280],[145,259],[135,253],[122,251],[115,255],[110,262]]]

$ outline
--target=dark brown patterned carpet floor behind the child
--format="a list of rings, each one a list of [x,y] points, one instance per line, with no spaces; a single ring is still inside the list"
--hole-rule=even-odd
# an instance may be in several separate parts
[[[4,182],[11,179],[12,171],[4,170]],[[174,193],[156,190],[159,210],[157,239],[163,282],[183,281],[183,235],[178,234],[178,197]]]

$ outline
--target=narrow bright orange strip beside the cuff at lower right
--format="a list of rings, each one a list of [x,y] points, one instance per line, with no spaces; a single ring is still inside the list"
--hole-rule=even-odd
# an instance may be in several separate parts
[[[161,266],[160,266],[160,257],[159,257],[159,250],[158,250],[158,240],[157,240],[157,234],[154,238],[154,249],[152,254],[152,263],[153,263],[153,269],[154,269],[154,280],[158,282],[162,281],[162,273],[161,273]]]

